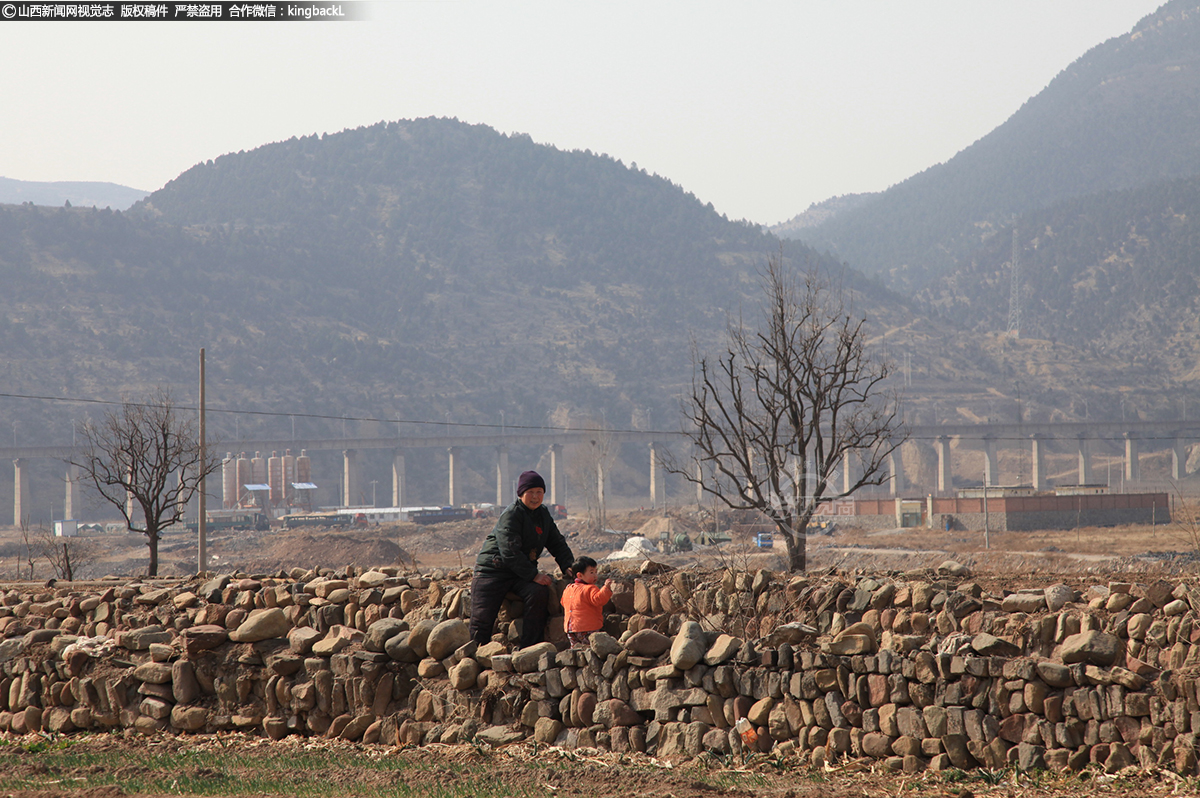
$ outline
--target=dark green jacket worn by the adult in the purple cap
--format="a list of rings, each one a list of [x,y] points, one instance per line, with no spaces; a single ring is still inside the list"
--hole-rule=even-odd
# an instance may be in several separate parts
[[[494,576],[511,574],[532,582],[538,576],[538,558],[544,548],[554,556],[565,575],[575,562],[571,547],[554,526],[546,505],[530,510],[521,499],[514,502],[496,522],[492,534],[475,559],[475,572]]]

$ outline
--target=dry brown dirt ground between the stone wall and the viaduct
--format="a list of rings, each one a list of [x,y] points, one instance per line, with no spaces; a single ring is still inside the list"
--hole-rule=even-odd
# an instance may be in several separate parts
[[[1196,511],[1195,505],[1187,509]],[[832,530],[810,533],[809,569],[905,571],[956,559],[976,571],[1015,574],[1026,578],[1114,571],[1195,571],[1200,569],[1200,535],[1195,527],[1181,521],[1186,514],[1178,508],[1175,516],[1176,521],[1170,524],[991,532],[986,538],[977,529],[869,532],[836,526]],[[754,524],[737,523],[738,518],[730,514],[721,514],[719,521],[720,529],[730,533],[732,541],[719,546],[696,545],[690,552],[659,553],[655,559],[676,568],[786,570],[780,544],[776,542],[773,548],[758,548],[754,545]],[[209,570],[274,574],[296,566],[336,569],[352,564],[398,563],[424,571],[454,572],[474,564],[493,523],[492,518],[476,518],[432,526],[394,523],[362,529],[220,532],[209,535]],[[605,526],[611,532],[588,532],[592,527],[581,517],[559,522],[576,556],[589,554],[600,560],[619,550],[632,534],[642,534],[661,544],[664,532],[670,538],[683,532],[698,541],[701,530],[712,530],[713,518],[709,512],[695,509],[641,510],[611,515]],[[72,546],[79,548],[79,572],[85,577],[137,576],[145,574],[149,564],[145,539],[136,534],[80,538],[72,541]],[[35,578],[59,576],[37,553],[37,540],[31,540],[26,547],[19,530],[10,528],[0,529],[0,578],[16,577],[18,569],[20,576],[28,578],[28,551],[32,552]],[[554,569],[548,557],[542,560],[542,566]],[[160,544],[160,574],[186,576],[196,570],[194,535],[166,535]]]

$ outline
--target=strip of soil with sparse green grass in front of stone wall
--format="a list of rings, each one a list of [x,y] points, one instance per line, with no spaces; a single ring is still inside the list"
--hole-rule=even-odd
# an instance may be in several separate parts
[[[1194,796],[1196,780],[1129,769],[1116,775],[1012,770],[900,774],[876,763],[824,770],[756,755],[672,764],[642,755],[566,751],[526,743],[362,746],[241,734],[131,738],[100,734],[0,742],[0,794],[12,798],[119,796],[571,796],[629,798],[1033,798]]]

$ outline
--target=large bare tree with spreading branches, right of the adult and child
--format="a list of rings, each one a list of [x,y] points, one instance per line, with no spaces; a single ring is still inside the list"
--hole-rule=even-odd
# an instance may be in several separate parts
[[[683,401],[692,460],[678,474],[736,510],[774,522],[788,568],[806,566],[808,526],[823,502],[882,485],[904,439],[890,368],[866,353],[862,318],[815,270],[790,271],[782,253],[761,275],[758,326],[731,319],[725,352],[692,354]],[[847,490],[833,476],[858,460]]]

